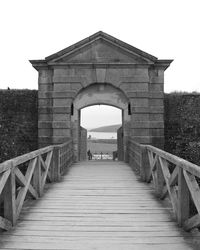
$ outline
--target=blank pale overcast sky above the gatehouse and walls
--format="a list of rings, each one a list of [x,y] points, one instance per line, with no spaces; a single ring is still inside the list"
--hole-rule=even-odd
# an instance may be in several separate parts
[[[37,89],[29,59],[102,30],[159,59],[174,59],[165,92],[200,92],[199,0],[0,0],[0,88]]]

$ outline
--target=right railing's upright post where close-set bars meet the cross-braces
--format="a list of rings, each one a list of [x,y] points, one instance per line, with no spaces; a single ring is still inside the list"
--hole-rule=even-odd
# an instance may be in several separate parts
[[[147,180],[149,168],[150,168],[150,165],[149,165],[147,148],[141,145],[140,176],[141,176],[142,181]]]

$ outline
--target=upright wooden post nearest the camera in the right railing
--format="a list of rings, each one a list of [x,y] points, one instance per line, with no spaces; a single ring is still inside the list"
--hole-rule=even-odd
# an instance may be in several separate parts
[[[182,226],[184,221],[189,218],[190,212],[190,196],[183,169],[179,167],[178,171],[178,224]]]

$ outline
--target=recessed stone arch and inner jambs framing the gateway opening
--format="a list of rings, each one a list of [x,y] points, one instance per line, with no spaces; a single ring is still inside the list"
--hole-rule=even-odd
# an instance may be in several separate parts
[[[85,131],[81,126],[81,111],[84,112],[83,110],[86,107],[94,105],[108,105],[120,110],[120,123],[122,124],[122,127],[119,131],[120,136],[118,134],[118,158],[119,160],[126,160],[126,145],[130,121],[130,115],[128,114],[128,98],[125,96],[122,90],[107,83],[91,84],[88,87],[82,89],[74,99],[71,121],[74,152],[76,157],[75,160],[84,160],[85,152],[83,148],[86,147],[83,138],[84,136],[87,138],[87,131]],[[110,124],[112,124],[112,122]],[[107,124],[105,123],[105,125]]]

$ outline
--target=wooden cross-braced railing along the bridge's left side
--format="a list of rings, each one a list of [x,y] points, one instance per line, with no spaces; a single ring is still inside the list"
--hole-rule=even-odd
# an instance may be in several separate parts
[[[24,202],[42,196],[73,161],[72,142],[48,146],[0,164],[0,228],[16,224]]]

